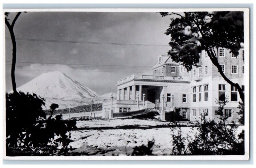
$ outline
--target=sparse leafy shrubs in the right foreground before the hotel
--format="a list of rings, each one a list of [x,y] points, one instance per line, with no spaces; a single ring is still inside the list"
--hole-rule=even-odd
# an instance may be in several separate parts
[[[196,121],[194,136],[184,135],[180,121],[174,122],[176,127],[171,128],[173,155],[244,155],[244,130],[237,135],[238,126],[227,121],[229,116],[224,111],[227,97],[224,101],[216,100],[216,103],[219,105],[218,123],[210,120],[203,111],[201,121]]]

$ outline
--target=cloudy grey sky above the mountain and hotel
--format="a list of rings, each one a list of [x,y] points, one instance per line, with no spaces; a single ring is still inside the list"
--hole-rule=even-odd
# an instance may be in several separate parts
[[[8,16],[10,22],[15,15]],[[169,16],[156,12],[21,13],[14,26],[17,88],[58,70],[99,95],[116,92],[118,80],[152,74],[157,56],[170,49],[170,36],[164,34],[169,24]],[[12,42],[7,26],[5,38],[6,91],[11,91]]]

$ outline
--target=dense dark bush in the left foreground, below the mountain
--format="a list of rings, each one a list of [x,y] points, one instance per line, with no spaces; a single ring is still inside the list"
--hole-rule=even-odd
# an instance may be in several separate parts
[[[76,121],[46,119],[44,101],[36,94],[6,93],[7,156],[50,156],[67,150],[66,133],[76,128]]]

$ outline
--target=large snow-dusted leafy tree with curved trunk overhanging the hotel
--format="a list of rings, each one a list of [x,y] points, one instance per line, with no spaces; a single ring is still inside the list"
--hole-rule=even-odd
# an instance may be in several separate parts
[[[228,84],[235,86],[244,103],[244,93],[239,84],[232,82],[222,71],[218,62],[218,49],[230,49],[236,56],[244,42],[244,12],[160,12],[162,17],[176,15],[171,18],[171,24],[166,35],[171,35],[169,45],[172,47],[168,55],[175,62],[182,62],[187,70],[199,63],[199,53],[205,50],[212,63],[218,68],[220,75]],[[244,59],[244,58],[243,58]]]

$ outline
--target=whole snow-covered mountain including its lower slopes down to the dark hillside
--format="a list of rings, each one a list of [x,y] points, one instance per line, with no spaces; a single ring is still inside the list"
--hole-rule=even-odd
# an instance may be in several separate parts
[[[60,71],[41,74],[17,88],[17,91],[36,93],[45,98],[46,109],[52,103],[58,104],[58,109],[64,109],[108,101]]]

